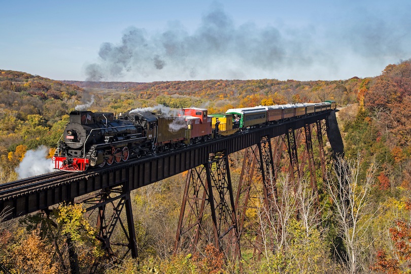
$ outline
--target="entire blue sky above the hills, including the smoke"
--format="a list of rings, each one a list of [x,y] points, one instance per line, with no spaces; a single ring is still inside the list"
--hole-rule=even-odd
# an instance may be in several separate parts
[[[8,1],[0,69],[55,80],[340,80],[411,58],[409,1]]]

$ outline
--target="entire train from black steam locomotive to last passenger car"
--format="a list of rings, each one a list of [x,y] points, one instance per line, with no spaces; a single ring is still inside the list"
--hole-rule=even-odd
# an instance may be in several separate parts
[[[128,111],[117,118],[109,112],[73,111],[53,156],[54,168],[79,172],[103,167],[335,108],[335,101],[325,101],[229,109],[212,115],[206,109],[186,108],[173,117]]]

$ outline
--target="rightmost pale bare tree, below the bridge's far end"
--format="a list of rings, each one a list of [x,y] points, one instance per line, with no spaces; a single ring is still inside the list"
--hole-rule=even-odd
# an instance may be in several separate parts
[[[333,200],[334,220],[338,235],[347,248],[347,271],[358,272],[361,255],[372,244],[364,241],[375,213],[371,212],[370,190],[376,166],[370,164],[366,179],[360,184],[360,156],[355,160],[337,157],[333,166],[334,176],[327,177],[328,194]]]

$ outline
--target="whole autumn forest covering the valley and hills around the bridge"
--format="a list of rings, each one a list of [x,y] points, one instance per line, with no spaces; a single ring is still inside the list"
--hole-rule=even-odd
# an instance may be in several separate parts
[[[157,105],[199,107],[213,114],[330,99],[337,103],[344,157],[324,142],[328,176],[317,174],[315,207],[309,184],[292,189],[284,175],[278,186],[283,207],[266,216],[284,222],[263,224],[259,220],[266,213],[258,206],[247,212],[254,220],[250,226],[265,226],[260,238],[282,234],[259,260],[252,250],[243,252],[242,261],[229,260],[212,245],[173,256],[183,173],[131,193],[139,261],[109,258],[82,205],[63,204],[51,220],[33,214],[0,222],[0,273],[88,273],[96,258],[102,262],[99,273],[106,274],[410,272],[411,59],[382,67],[376,77],[335,81],[80,82],[0,70],[0,184],[24,176],[19,166],[30,151],[42,149],[50,159],[68,114],[79,105],[114,113]],[[240,177],[243,156],[229,157],[233,182]],[[67,237],[73,239],[72,249]],[[68,250],[78,257],[77,268]]]

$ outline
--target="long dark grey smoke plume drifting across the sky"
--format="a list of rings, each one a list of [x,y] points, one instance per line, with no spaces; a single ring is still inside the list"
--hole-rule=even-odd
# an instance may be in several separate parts
[[[316,80],[334,79],[339,70],[346,70],[348,79],[358,70],[374,71],[411,54],[409,16],[388,23],[378,14],[351,14],[341,18],[344,28],[261,27],[252,22],[237,25],[221,5],[213,5],[191,33],[180,22],[155,33],[128,27],[119,44],[100,46],[99,61],[85,68],[87,81],[297,79],[293,76]]]

